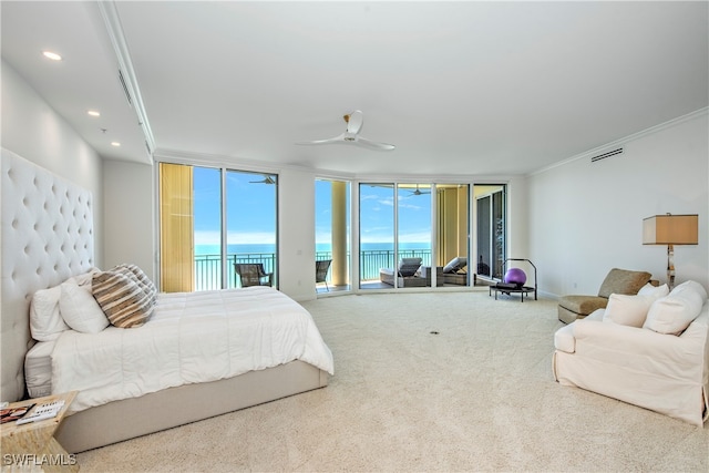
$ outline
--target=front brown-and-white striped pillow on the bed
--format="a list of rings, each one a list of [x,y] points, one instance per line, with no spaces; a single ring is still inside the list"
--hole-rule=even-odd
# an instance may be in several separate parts
[[[153,315],[154,298],[127,269],[114,268],[93,276],[92,294],[109,321],[120,328],[141,327]]]

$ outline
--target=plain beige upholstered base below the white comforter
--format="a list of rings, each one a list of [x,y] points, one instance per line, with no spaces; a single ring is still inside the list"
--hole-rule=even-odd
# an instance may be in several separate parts
[[[296,360],[225,380],[185,384],[90,408],[65,418],[54,436],[68,452],[84,452],[323,388],[328,377],[326,371]]]

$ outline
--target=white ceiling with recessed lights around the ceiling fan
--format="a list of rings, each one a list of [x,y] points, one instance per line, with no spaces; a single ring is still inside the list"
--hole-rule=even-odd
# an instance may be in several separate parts
[[[481,176],[526,174],[706,107],[708,4],[104,3],[157,154]],[[97,3],[2,1],[1,17],[2,58],[101,155],[150,162]],[[342,133],[356,109],[361,135],[395,151],[295,145]]]

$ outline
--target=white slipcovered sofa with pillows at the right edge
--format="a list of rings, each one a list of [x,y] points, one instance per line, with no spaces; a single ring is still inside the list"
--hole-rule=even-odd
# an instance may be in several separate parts
[[[662,294],[662,290],[665,291]],[[612,295],[554,336],[554,377],[573,385],[703,426],[709,419],[709,304],[687,281]]]

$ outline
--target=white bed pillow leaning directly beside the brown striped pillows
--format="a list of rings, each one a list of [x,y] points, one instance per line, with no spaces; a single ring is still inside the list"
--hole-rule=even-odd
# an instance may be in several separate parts
[[[91,294],[91,286],[74,280],[60,285],[59,311],[69,327],[82,333],[99,333],[109,327],[109,319]]]

